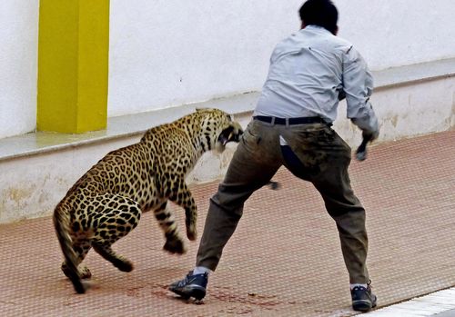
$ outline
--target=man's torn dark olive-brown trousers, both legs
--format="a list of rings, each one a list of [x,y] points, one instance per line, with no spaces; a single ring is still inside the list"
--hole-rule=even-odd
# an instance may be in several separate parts
[[[280,136],[287,145],[280,144]],[[242,216],[245,201],[285,165],[298,178],[313,183],[321,194],[337,224],[349,281],[369,282],[365,210],[350,186],[350,157],[349,145],[328,124],[287,126],[251,121],[223,182],[210,199],[197,266],[216,270],[223,248]]]

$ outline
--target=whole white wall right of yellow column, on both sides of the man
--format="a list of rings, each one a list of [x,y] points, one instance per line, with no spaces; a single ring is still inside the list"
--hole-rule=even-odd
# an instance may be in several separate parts
[[[378,70],[455,56],[453,0],[336,0]],[[108,115],[257,91],[303,0],[111,0]]]

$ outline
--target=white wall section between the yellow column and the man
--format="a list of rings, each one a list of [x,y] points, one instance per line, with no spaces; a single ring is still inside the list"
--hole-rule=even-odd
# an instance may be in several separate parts
[[[108,115],[258,90],[300,0],[112,0]]]

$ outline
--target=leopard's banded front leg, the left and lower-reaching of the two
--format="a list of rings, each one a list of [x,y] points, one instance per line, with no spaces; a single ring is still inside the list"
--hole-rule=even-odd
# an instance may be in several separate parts
[[[155,218],[163,232],[165,233],[166,243],[163,249],[168,253],[183,254],[187,252],[185,243],[178,234],[177,223],[174,214],[169,210],[167,202],[162,203],[154,210]]]

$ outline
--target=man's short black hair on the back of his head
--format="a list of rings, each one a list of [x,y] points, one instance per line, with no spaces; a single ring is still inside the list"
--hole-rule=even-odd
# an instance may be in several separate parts
[[[305,25],[319,25],[333,35],[337,33],[339,11],[330,0],[308,0],[298,11]]]

